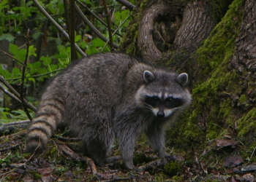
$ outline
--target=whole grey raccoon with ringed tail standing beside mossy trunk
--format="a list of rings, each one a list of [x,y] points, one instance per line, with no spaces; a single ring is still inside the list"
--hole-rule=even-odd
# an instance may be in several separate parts
[[[84,154],[104,165],[117,138],[124,164],[134,167],[135,139],[146,133],[165,157],[165,129],[187,108],[187,74],[122,53],[82,58],[56,76],[42,94],[26,135],[26,152],[40,154],[61,124],[82,138]]]

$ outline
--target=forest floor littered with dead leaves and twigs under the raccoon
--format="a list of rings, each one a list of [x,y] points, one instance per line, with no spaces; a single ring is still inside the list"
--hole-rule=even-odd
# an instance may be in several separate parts
[[[256,162],[244,162],[246,159],[236,151],[239,144],[232,138],[212,141],[200,151],[166,148],[170,156],[158,159],[142,137],[136,143],[136,167],[127,170],[118,146],[113,146],[105,167],[96,167],[91,159],[80,155],[80,143],[72,138],[55,136],[42,155],[31,157],[23,152],[26,126],[1,126],[0,132],[0,182],[256,181]]]

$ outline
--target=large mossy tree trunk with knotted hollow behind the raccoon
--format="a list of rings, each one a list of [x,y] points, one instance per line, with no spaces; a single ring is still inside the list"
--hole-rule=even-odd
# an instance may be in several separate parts
[[[189,74],[193,103],[168,132],[168,144],[205,149],[207,141],[228,136],[248,143],[239,149],[243,157],[246,150],[252,154],[255,0],[144,1],[138,7],[121,49]]]

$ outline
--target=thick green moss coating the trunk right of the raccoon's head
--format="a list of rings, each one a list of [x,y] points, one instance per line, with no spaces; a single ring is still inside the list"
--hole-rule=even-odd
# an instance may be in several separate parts
[[[226,121],[233,126],[230,95],[241,88],[237,84],[238,73],[230,72],[229,64],[240,30],[243,12],[239,9],[243,4],[244,0],[233,1],[221,22],[195,52],[200,78],[194,80],[192,112],[185,114],[168,133],[170,138],[176,138],[179,148],[191,147],[193,143],[203,147],[207,139],[228,134]]]

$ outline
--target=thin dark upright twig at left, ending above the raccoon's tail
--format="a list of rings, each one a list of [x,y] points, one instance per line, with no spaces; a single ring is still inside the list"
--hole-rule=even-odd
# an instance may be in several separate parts
[[[27,41],[27,44],[26,44],[26,58],[25,58],[25,61],[23,63],[22,78],[21,78],[21,82],[20,82],[20,100],[21,100],[21,103],[23,105],[23,109],[24,109],[26,115],[29,117],[29,120],[32,121],[32,117],[29,114],[29,110],[26,106],[26,103],[25,103],[25,100],[24,100],[24,97],[23,97],[23,88],[24,88],[24,82],[25,82],[26,66],[27,66],[27,63],[28,63],[28,60],[29,60],[29,46],[30,46],[29,45],[29,30],[26,34],[26,41]]]

